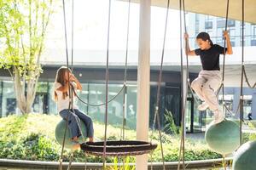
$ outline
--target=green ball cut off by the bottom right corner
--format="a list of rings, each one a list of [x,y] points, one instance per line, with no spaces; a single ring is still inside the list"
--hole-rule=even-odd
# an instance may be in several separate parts
[[[256,169],[256,141],[242,144],[233,157],[233,170]]]

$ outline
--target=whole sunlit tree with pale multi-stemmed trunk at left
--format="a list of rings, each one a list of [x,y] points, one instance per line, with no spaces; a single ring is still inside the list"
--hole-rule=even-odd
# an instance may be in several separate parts
[[[30,113],[53,0],[0,0],[0,69],[15,84],[17,106]]]

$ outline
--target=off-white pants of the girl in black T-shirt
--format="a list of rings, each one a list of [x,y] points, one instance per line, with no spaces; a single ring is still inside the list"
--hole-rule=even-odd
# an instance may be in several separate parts
[[[221,84],[220,71],[200,71],[191,87],[198,97],[209,105],[211,111],[219,109],[216,91]]]

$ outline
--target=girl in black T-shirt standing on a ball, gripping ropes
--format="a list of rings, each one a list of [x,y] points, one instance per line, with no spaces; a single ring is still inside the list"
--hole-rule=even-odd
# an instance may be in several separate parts
[[[213,111],[215,123],[224,120],[224,113],[219,108],[215,94],[222,81],[221,72],[219,71],[219,54],[233,54],[228,31],[224,31],[224,38],[227,41],[227,48],[213,44],[209,34],[201,32],[196,37],[196,42],[200,48],[190,50],[189,35],[184,34],[186,54],[190,56],[199,55],[201,59],[202,70],[191,84],[191,87],[202,101],[198,110],[205,111],[209,108]]]

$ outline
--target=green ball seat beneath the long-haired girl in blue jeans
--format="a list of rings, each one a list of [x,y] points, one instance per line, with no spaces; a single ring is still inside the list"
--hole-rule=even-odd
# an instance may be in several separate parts
[[[80,126],[82,129],[84,138],[86,138],[87,132],[86,132],[86,127],[84,125],[84,122],[80,122]],[[55,138],[56,138],[57,142],[61,145],[62,145],[63,139],[64,139],[65,128],[66,128],[66,121],[63,119],[55,127]],[[67,126],[67,133],[66,133],[65,144],[64,144],[64,147],[66,149],[71,149],[73,146],[73,142],[72,142],[71,138],[72,138],[71,132],[70,132],[69,127]],[[80,143],[84,142],[82,136],[79,137],[79,142]]]

